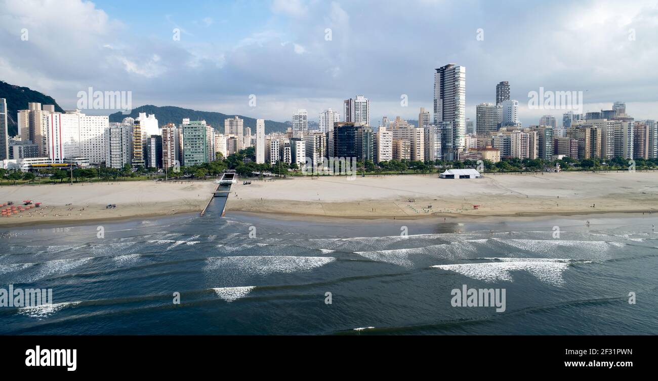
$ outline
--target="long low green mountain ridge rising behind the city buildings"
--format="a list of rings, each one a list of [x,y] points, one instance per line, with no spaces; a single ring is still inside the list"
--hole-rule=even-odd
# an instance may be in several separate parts
[[[190,118],[191,121],[205,120],[206,123],[213,126],[220,132],[224,131],[224,119],[236,116],[236,114],[227,115],[215,111],[197,111],[176,106],[143,105],[137,107],[136,109],[132,109],[132,112],[129,115],[124,115],[121,113],[121,111],[110,114],[110,122],[118,123],[126,117],[136,118],[139,116],[139,113],[155,114],[155,118],[158,119],[158,125],[160,126],[166,125],[167,123],[180,125],[184,118]],[[244,120],[244,127],[251,127],[251,133],[256,133],[256,119],[245,117],[243,115],[238,115],[238,117]],[[286,131],[286,129],[288,129],[288,125],[286,125],[286,123],[270,120],[265,121],[265,133]]]

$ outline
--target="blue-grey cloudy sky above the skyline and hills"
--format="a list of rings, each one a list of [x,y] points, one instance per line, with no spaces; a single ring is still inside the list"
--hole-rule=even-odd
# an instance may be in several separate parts
[[[658,119],[658,0],[0,0],[0,9],[0,80],[64,109],[91,86],[131,91],[134,107],[277,121],[305,108],[316,120],[363,94],[376,125],[431,110],[434,69],[457,63],[471,119],[501,80],[524,125],[561,119],[563,110],[528,109],[540,87],[582,91],[584,111],[620,100],[636,119]]]

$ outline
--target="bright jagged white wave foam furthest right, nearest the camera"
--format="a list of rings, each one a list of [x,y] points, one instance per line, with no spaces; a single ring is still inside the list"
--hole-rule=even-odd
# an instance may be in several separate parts
[[[514,281],[511,272],[526,271],[544,283],[561,286],[562,273],[569,268],[569,260],[547,258],[498,258],[500,262],[440,264],[432,268],[457,272],[468,278],[486,281]]]

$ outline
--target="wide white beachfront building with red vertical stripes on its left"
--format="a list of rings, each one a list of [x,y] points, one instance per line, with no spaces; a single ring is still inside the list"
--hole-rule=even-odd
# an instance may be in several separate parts
[[[48,157],[55,162],[84,156],[92,164],[105,162],[109,118],[85,115],[80,110],[49,113],[43,117],[47,134]]]

